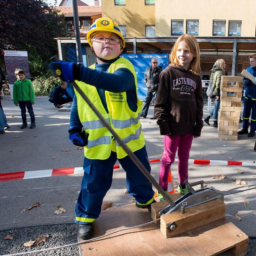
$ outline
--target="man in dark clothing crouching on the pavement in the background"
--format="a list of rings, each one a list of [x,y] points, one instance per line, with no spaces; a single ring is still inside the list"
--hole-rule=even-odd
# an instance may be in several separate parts
[[[49,95],[49,101],[54,104],[54,108],[63,108],[62,104],[73,101],[66,91],[67,83],[61,82],[59,86],[56,86],[52,89]],[[63,97],[63,96],[66,97]]]

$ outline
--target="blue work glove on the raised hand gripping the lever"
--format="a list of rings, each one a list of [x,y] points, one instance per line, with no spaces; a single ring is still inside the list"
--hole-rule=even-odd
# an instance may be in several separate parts
[[[76,73],[76,66],[74,62],[64,62],[61,60],[50,64],[52,71],[59,76],[62,81],[74,81],[77,79],[74,75],[74,73]]]

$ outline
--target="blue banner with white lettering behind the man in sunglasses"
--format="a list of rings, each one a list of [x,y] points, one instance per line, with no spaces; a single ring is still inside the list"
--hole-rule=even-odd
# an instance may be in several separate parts
[[[148,88],[144,84],[144,76],[147,68],[151,67],[150,60],[156,58],[158,67],[166,68],[168,66],[168,53],[125,53],[121,55],[122,58],[130,60],[137,74],[138,81],[138,98],[145,100]]]

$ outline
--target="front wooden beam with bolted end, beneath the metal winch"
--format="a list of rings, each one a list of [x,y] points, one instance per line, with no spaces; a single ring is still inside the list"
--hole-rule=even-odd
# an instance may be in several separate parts
[[[166,238],[188,232],[207,223],[225,218],[226,205],[220,200],[213,200],[185,209],[185,213],[172,212],[160,218],[160,230]],[[191,221],[193,220],[193,221]],[[167,226],[175,221],[177,228],[169,231]]]

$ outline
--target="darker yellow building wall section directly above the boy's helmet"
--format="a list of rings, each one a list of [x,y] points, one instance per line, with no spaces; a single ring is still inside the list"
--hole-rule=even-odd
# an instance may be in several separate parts
[[[102,0],[101,4],[102,17],[111,18],[118,25],[126,25],[126,36],[145,36],[145,25],[155,25],[155,5],[145,5],[145,0],[126,0],[126,5]]]

